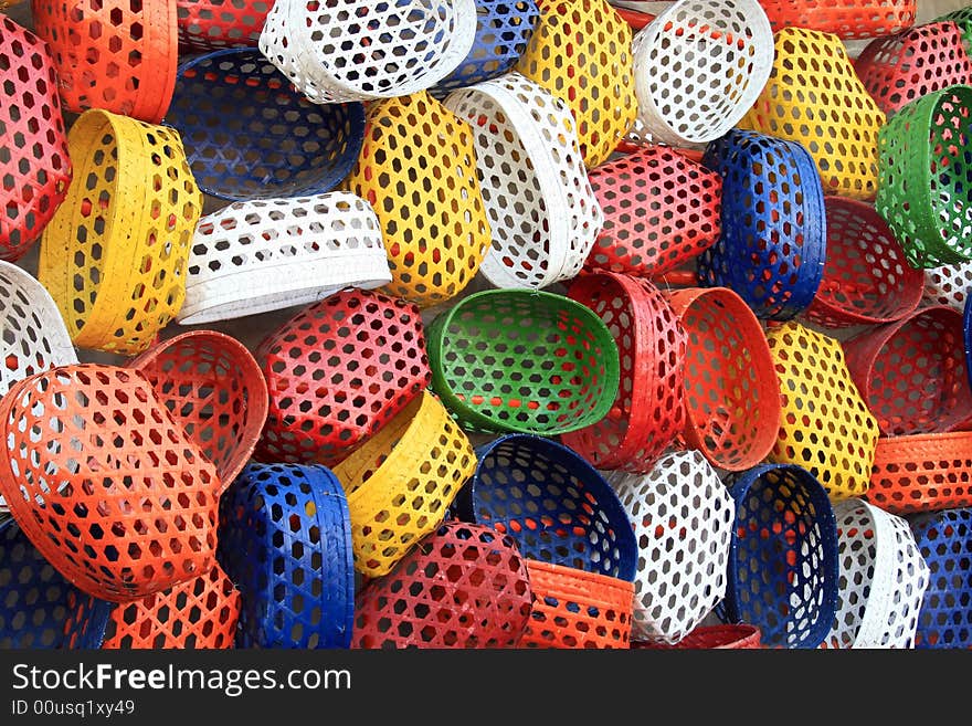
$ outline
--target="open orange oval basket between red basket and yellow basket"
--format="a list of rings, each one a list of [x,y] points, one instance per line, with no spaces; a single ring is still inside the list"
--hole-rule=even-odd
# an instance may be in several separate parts
[[[685,442],[719,469],[754,466],[780,430],[780,389],[759,320],[727,287],[667,297],[686,334]]]

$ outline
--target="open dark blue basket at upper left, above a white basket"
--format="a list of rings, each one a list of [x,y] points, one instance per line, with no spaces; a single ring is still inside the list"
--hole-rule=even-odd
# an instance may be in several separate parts
[[[234,201],[330,191],[364,140],[362,104],[310,103],[256,49],[183,63],[162,123],[181,135],[199,188]]]

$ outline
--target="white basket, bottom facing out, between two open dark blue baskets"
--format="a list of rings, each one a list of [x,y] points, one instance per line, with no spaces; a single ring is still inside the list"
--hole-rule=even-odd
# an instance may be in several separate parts
[[[632,640],[677,643],[726,595],[732,496],[698,451],[666,454],[649,474],[605,478],[638,543]]]

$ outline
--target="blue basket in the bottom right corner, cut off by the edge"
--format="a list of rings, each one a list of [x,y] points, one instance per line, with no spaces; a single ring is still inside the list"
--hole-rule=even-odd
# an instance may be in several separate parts
[[[972,508],[910,518],[929,569],[915,648],[972,648]]]

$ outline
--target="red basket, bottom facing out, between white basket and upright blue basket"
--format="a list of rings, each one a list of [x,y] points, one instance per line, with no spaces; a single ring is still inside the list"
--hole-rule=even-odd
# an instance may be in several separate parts
[[[647,277],[678,267],[719,239],[722,179],[663,146],[591,170],[604,213],[585,267]]]

